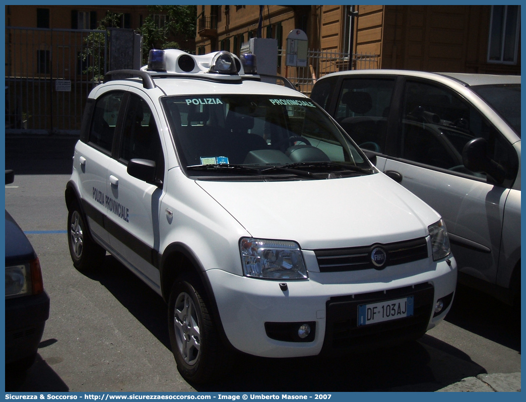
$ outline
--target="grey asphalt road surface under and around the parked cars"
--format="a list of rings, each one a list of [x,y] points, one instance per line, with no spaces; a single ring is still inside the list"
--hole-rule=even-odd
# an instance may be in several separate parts
[[[107,255],[75,270],[64,189],[72,139],[6,139],[6,209],[28,233],[51,298],[36,363],[6,373],[6,391],[434,391],[482,373],[520,371],[520,325],[498,301],[459,288],[446,321],[417,342],[366,355],[263,359],[236,355],[221,383],[188,384],[171,355],[164,301]]]

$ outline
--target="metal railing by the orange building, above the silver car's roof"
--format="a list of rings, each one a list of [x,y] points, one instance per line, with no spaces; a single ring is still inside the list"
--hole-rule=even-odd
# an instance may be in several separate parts
[[[286,64],[286,50],[278,50],[281,66]],[[333,51],[314,51],[307,53],[307,67],[286,67],[286,78],[299,91],[309,95],[318,78],[338,71],[379,68],[379,59],[373,54],[351,54]]]

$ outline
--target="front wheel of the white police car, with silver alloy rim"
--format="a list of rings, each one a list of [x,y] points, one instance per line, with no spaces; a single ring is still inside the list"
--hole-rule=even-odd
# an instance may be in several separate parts
[[[178,280],[168,301],[171,350],[181,375],[195,384],[211,383],[226,371],[226,350],[201,289],[196,279]]]

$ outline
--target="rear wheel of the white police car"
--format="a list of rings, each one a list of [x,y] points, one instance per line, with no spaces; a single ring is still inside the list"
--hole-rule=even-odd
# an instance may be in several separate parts
[[[94,242],[76,201],[69,205],[67,216],[69,255],[80,272],[98,269],[104,262],[106,250]]]

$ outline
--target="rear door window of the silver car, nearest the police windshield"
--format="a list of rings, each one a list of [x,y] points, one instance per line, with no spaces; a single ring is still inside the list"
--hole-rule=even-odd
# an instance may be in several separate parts
[[[362,149],[383,153],[395,79],[349,78],[343,81],[336,121]]]

